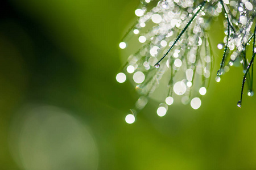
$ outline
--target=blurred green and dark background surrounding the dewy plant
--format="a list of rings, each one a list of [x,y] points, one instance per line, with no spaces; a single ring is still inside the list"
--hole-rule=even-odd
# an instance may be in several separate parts
[[[124,57],[118,44],[138,4],[0,3],[0,169],[256,169],[256,97],[236,106],[240,67],[220,83],[212,76],[199,109],[174,103],[158,117],[150,100],[126,124],[139,96],[115,80]],[[221,25],[210,31],[213,75]]]

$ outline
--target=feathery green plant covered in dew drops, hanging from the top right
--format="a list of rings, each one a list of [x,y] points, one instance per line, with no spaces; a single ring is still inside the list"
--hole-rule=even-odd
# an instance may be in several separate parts
[[[126,122],[134,122],[135,111],[144,108],[148,96],[159,94],[158,89],[167,92],[164,99],[160,99],[163,103],[157,109],[159,116],[166,114],[174,99],[180,99],[183,104],[190,103],[193,109],[200,107],[201,96],[207,92],[213,71],[212,49],[215,47],[210,44],[209,29],[219,15],[225,16],[226,36],[224,43],[217,46],[224,48],[224,53],[216,81],[220,82],[221,75],[229,71],[233,63],[241,64],[244,76],[237,103],[241,108],[245,80],[249,88],[247,95],[254,94],[255,6],[255,0],[141,0],[135,10],[138,20],[119,44],[125,49],[134,37],[141,44],[136,45],[137,51],[127,59],[124,73],[118,73],[116,77],[122,83],[126,75],[130,76],[141,95]],[[248,58],[249,43],[253,50]]]

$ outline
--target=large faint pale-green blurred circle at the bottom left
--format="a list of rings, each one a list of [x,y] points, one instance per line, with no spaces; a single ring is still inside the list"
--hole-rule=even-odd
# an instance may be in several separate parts
[[[72,114],[47,105],[27,105],[15,118],[10,147],[21,169],[98,169],[93,135]]]

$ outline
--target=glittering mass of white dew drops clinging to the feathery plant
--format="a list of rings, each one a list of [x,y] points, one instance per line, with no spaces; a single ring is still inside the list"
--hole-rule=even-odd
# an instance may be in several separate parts
[[[213,2],[214,1],[212,1],[212,3]],[[231,8],[229,11],[231,11],[233,18],[238,17],[237,20],[232,20],[236,27],[244,29],[251,26],[248,24],[248,22],[250,23],[251,20],[248,18],[245,12],[245,8],[247,11],[252,10],[253,5],[249,1],[241,1],[240,3],[237,3],[235,1],[229,2],[228,0],[224,0],[223,2],[225,3],[226,7],[232,6],[233,11]],[[190,96],[188,96],[188,94],[191,94],[191,88],[194,83],[193,75],[199,74],[200,76],[204,77],[204,83],[201,83],[201,85],[197,86],[199,94],[203,96],[207,92],[207,79],[209,79],[210,71],[212,69],[212,67],[209,66],[213,60],[212,54],[206,52],[204,56],[201,57],[203,63],[200,63],[199,67],[196,65],[198,63],[195,61],[195,56],[197,49],[199,46],[203,46],[202,44],[204,42],[206,46],[204,47],[205,50],[209,51],[208,33],[205,32],[205,30],[208,29],[208,23],[205,22],[204,17],[213,18],[220,15],[222,12],[222,6],[220,5],[220,2],[217,3],[216,6],[208,7],[208,10],[200,11],[199,16],[196,17],[195,21],[193,21],[194,23],[191,24],[188,28],[187,32],[190,33],[185,35],[188,37],[184,36],[180,39],[180,41],[175,46],[176,49],[174,49],[173,52],[170,52],[171,57],[168,57],[167,61],[163,61],[166,62],[166,65],[161,65],[161,67],[157,62],[158,59],[156,57],[161,56],[168,50],[168,48],[172,45],[175,36],[177,36],[177,33],[179,33],[181,29],[184,28],[184,25],[188,22],[189,17],[191,18],[192,14],[195,13],[195,2],[193,0],[159,1],[157,6],[152,7],[151,10],[147,11],[147,4],[150,3],[150,0],[143,0],[142,4],[135,10],[135,15],[137,15],[139,19],[135,26],[131,28],[128,33],[128,35],[132,34],[137,37],[137,40],[142,45],[137,53],[132,54],[127,59],[127,63],[125,64],[123,71],[116,75],[116,80],[118,83],[124,83],[127,79],[127,75],[132,75],[130,77],[136,84],[135,88],[139,91],[139,93],[142,94],[142,96],[139,97],[135,103],[135,109],[130,109],[131,113],[127,114],[125,118],[125,121],[128,124],[133,124],[135,121],[136,111],[145,107],[148,102],[148,95],[155,91],[156,87],[159,85],[159,80],[162,79],[164,73],[170,70],[170,67],[175,71],[177,76],[183,76],[183,74],[178,74],[179,72],[183,72],[185,79],[177,80],[177,78],[175,78],[176,82],[174,82],[173,86],[170,88],[165,102],[160,103],[158,109],[156,109],[158,116],[164,116],[167,113],[168,105],[172,105],[174,103],[174,96],[172,91],[174,91],[178,96],[187,94],[181,98],[181,102],[183,104],[188,104],[190,102],[190,105],[193,109],[200,108],[200,97],[193,97],[193,99],[190,100]],[[148,29],[147,25],[152,28]],[[225,22],[224,27],[227,27]],[[243,32],[233,32],[233,36],[230,36],[228,43],[228,48],[230,50],[229,53],[231,53],[230,59],[224,66],[224,69],[221,70],[221,74],[216,76],[216,82],[220,82],[220,76],[223,73],[228,72],[229,67],[233,66],[233,63],[239,61],[240,63],[244,64],[246,62],[243,61],[243,59],[240,57],[240,53],[244,49],[242,45],[244,42],[247,42],[246,40],[249,39],[248,37],[250,36],[250,33],[250,30],[246,30]],[[128,47],[126,37],[122,42],[119,43],[119,48],[126,49]],[[224,43],[222,42],[217,45],[218,49],[224,48],[226,39],[227,36],[224,38]],[[185,42],[185,40],[188,42]],[[191,45],[192,42],[196,42],[196,46]],[[184,50],[182,45],[184,48],[191,48],[191,50],[188,52],[188,59],[181,57],[184,54],[182,52]],[[183,65],[188,65],[189,67],[184,66],[184,69],[182,67]],[[154,69],[158,71],[155,71]],[[248,92],[248,95],[252,96],[253,91]]]

